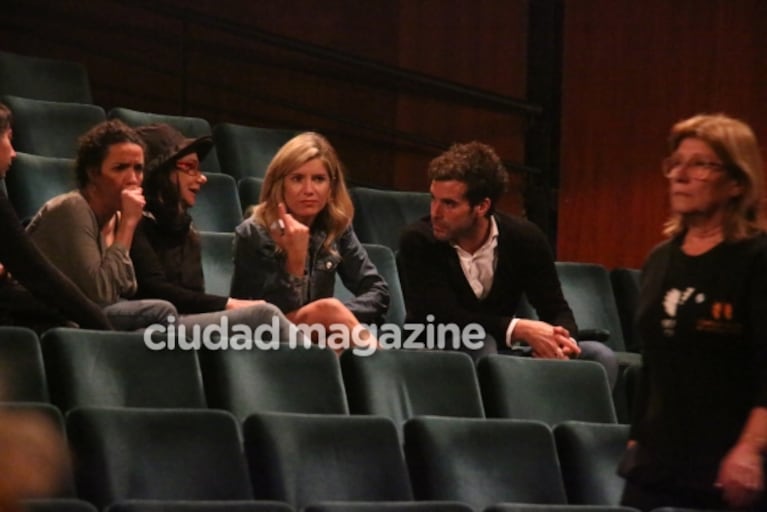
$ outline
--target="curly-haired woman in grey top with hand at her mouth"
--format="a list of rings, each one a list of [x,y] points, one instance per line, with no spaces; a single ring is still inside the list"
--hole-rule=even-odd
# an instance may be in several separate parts
[[[167,324],[167,301],[126,300],[137,288],[130,248],[144,211],[144,141],[117,120],[79,140],[78,189],[45,203],[27,226],[35,245],[119,330]]]

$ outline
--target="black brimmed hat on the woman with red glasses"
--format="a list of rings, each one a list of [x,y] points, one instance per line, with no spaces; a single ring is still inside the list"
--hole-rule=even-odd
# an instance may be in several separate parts
[[[145,175],[166,170],[171,163],[192,153],[197,153],[202,160],[213,148],[213,138],[209,135],[190,139],[164,123],[140,126],[136,128],[136,133],[146,144]]]

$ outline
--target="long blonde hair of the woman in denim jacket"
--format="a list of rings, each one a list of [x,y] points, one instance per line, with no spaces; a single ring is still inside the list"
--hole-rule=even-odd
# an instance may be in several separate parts
[[[328,204],[314,220],[314,226],[325,230],[327,237],[322,245],[327,250],[332,250],[333,242],[351,225],[354,206],[346,188],[343,166],[336,150],[318,133],[298,134],[277,151],[266,169],[259,204],[253,209],[252,217],[256,223],[267,229],[279,219],[277,206],[285,202],[285,177],[315,158],[319,158],[328,171],[330,197]]]

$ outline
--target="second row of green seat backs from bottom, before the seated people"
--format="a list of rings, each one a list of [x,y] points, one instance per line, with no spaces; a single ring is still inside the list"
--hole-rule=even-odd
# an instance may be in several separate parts
[[[604,368],[590,361],[275,344],[150,350],[143,333],[0,328],[3,401],[82,406],[368,414],[403,423],[421,415],[616,423]],[[158,341],[158,340],[155,340]]]

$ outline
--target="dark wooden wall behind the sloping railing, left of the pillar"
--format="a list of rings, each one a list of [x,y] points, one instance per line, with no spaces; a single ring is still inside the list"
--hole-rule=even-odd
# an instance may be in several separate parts
[[[526,0],[8,0],[0,49],[78,60],[95,101],[217,122],[315,129],[361,183],[425,190],[439,149],[473,138],[521,160],[524,123],[455,98],[385,84],[252,33],[260,29],[383,64],[521,96]]]

